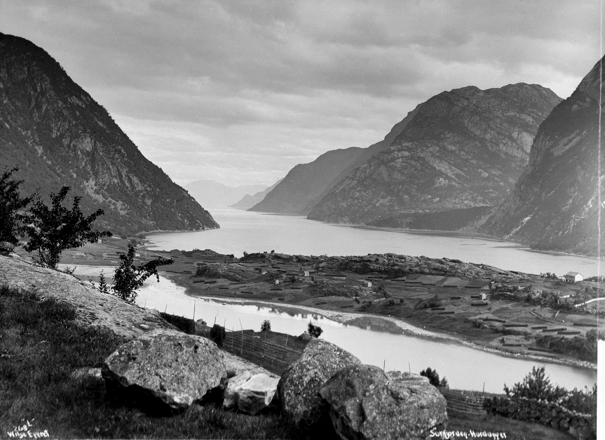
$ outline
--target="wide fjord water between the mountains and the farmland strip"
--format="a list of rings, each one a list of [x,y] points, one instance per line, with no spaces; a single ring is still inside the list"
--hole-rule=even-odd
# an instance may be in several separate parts
[[[149,249],[212,249],[221,254],[275,250],[299,255],[404,254],[456,258],[509,271],[531,274],[580,272],[597,275],[595,258],[537,252],[510,241],[469,237],[453,232],[410,231],[315,222],[296,215],[213,209],[220,229],[200,232],[162,232],[148,235]],[[600,274],[605,261],[600,262]]]

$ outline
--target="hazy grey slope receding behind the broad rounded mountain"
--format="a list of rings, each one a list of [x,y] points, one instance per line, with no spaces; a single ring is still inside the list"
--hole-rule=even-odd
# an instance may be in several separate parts
[[[349,172],[374,154],[388,148],[397,134],[401,133],[417,113],[419,107],[397,122],[383,140],[368,148],[333,149],[322,154],[313,162],[296,165],[288,172],[283,181],[264,197],[262,202],[257,203],[249,211],[309,214],[313,206],[323,199],[330,189],[344,179]]]

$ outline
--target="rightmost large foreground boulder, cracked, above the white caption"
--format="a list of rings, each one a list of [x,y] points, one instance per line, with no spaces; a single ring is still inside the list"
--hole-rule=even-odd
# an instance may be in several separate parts
[[[446,401],[428,379],[354,365],[319,390],[343,439],[422,439],[447,423]]]

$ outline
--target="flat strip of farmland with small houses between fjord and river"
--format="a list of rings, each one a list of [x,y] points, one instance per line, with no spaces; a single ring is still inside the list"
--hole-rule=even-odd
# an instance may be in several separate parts
[[[62,261],[116,266],[127,245],[103,239],[66,251]],[[402,320],[511,355],[595,366],[596,335],[603,330],[597,328],[603,289],[573,271],[561,277],[522,274],[393,254],[309,257],[267,251],[236,258],[209,249],[142,248],[136,255],[135,264],[171,258],[174,263],[159,272],[189,295],[272,303],[285,310],[312,307],[348,324],[389,332],[403,332],[393,323]]]

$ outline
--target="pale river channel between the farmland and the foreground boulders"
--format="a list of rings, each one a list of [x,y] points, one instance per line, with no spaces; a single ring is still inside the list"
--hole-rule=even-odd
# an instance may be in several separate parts
[[[535,360],[505,357],[463,346],[454,341],[376,332],[347,326],[322,317],[320,314],[280,311],[279,306],[227,304],[194,298],[185,294],[185,288],[161,278],[160,283],[148,280],[137,297],[137,304],[169,314],[203,319],[212,326],[217,323],[229,330],[260,330],[264,320],[271,321],[276,332],[300,335],[313,321],[323,330],[321,337],[353,353],[364,364],[419,373],[427,367],[436,369],[455,389],[482,390],[502,393],[523,380],[533,366],[544,365],[552,383],[567,389],[592,387],[597,382],[595,370]],[[195,310],[195,315],[194,315]]]

